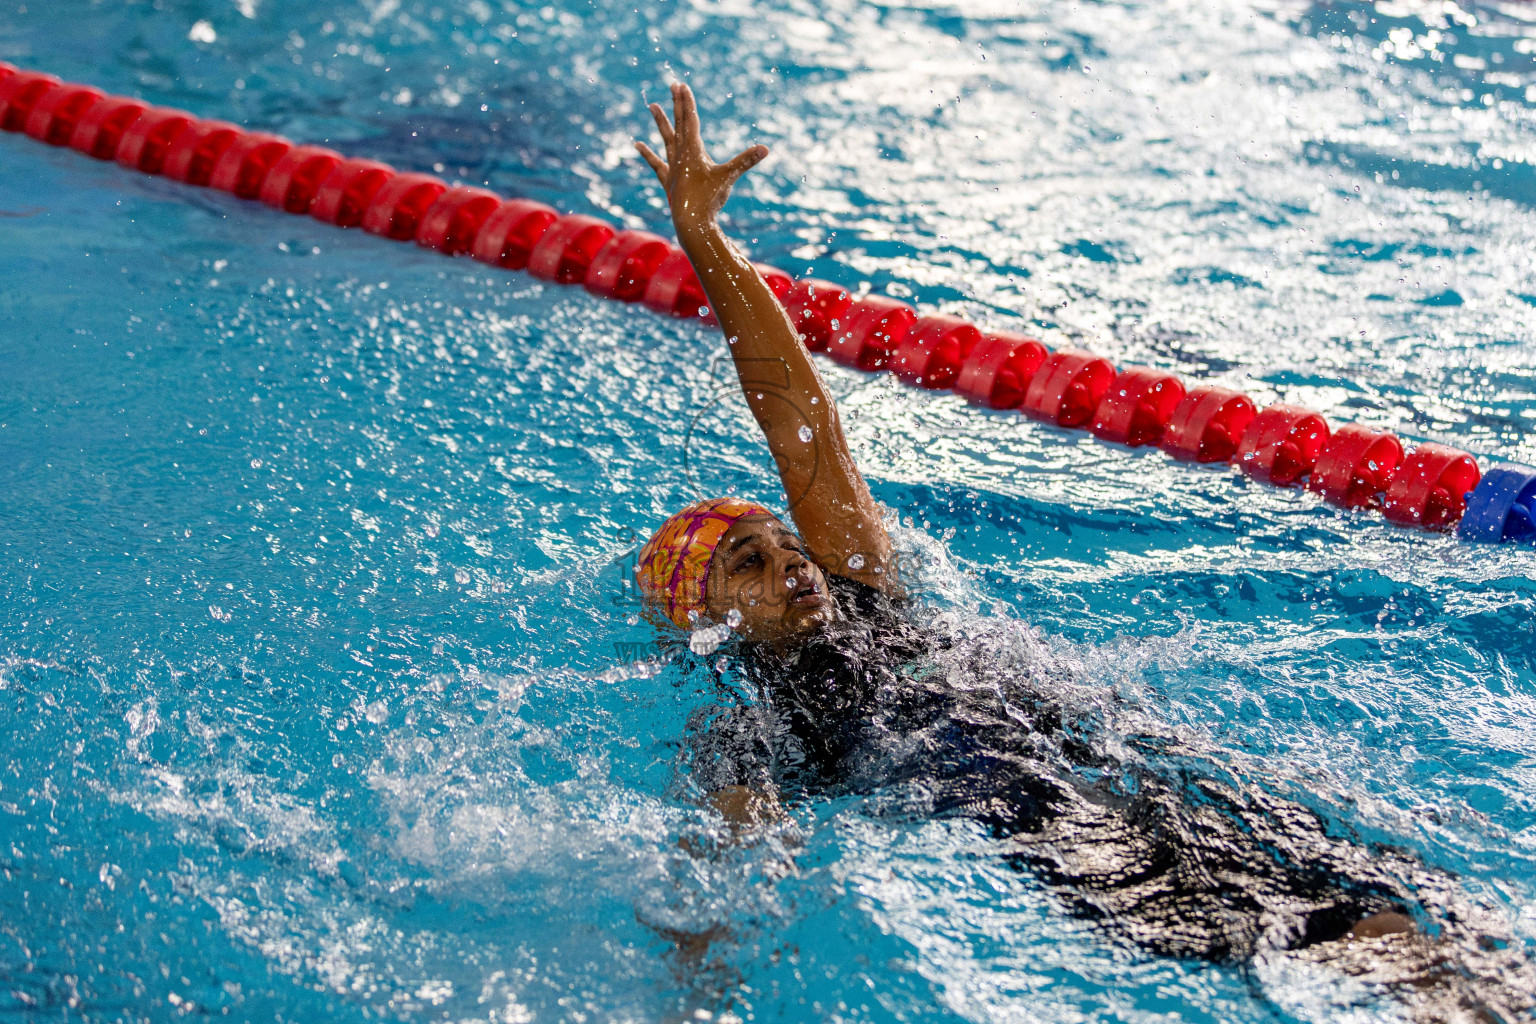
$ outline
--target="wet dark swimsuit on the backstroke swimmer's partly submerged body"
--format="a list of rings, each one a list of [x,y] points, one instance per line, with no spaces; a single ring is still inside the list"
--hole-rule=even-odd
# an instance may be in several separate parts
[[[757,699],[697,715],[687,768],[700,789],[862,794],[883,814],[975,820],[1075,913],[1170,956],[1298,949],[1409,904],[1392,872],[1405,858],[1220,781],[1177,742],[1124,737],[1130,757],[1095,752],[1092,723],[1043,686],[925,676],[945,637],[868,586],[829,588],[843,622],[788,654],[743,645]]]

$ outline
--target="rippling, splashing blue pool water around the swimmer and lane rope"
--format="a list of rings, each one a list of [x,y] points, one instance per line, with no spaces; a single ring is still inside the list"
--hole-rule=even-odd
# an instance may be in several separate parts
[[[760,259],[1536,462],[1536,8],[634,6],[5,0],[0,58],[657,230],[682,75],[774,149]],[[699,490],[777,496],[710,332],[26,138],[0,210],[8,1019],[1402,1016],[1144,953],[958,821],[711,844],[708,683],[622,586]],[[926,617],[1530,963],[1533,550],[822,370]]]

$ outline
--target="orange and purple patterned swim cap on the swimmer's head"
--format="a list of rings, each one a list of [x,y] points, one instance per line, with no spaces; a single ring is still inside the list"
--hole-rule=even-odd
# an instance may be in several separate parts
[[[710,559],[720,537],[745,516],[773,513],[739,497],[711,497],[673,514],[641,548],[641,594],[667,617],[688,628],[688,613],[703,613]]]

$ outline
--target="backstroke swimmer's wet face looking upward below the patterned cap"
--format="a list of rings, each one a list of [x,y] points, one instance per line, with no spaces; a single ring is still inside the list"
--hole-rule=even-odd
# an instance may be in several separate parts
[[[774,640],[833,620],[826,577],[800,539],[773,516],[746,516],[720,537],[710,560],[705,611],[714,622],[740,613],[736,631]]]

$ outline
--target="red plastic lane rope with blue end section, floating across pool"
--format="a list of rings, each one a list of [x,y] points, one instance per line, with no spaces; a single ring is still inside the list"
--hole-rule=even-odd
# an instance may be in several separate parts
[[[349,160],[321,146],[201,120],[184,111],[106,95],[0,61],[0,130],[25,132],[97,160],[206,186],[338,227],[415,241],[450,256],[527,270],[657,313],[716,322],[687,255],[667,239],[594,216],[504,200],[433,175]],[[891,370],[914,387],[954,390],[974,405],[1018,410],[1064,428],[1187,462],[1235,462],[1255,481],[1306,484],[1342,508],[1379,508],[1395,524],[1450,528],[1475,540],[1536,537],[1536,470],[1493,467],[1465,451],[1421,444],[1404,453],[1390,433],[1327,421],[1289,404],[1260,410],[1240,391],[1186,388],[1152,367],[1120,372],[1077,348],[983,332],[958,316],[920,315],[880,295],[796,281],[754,264],[811,352],[859,370]]]

